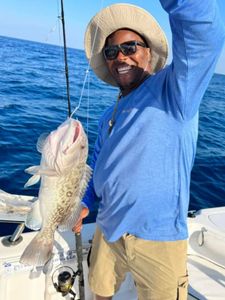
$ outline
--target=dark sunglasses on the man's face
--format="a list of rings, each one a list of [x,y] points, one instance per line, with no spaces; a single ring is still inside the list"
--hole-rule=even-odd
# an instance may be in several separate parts
[[[120,51],[125,56],[129,56],[129,55],[135,54],[137,52],[137,46],[141,46],[143,48],[147,48],[147,46],[143,42],[140,42],[140,41],[130,41],[130,42],[125,42],[123,44],[106,46],[103,49],[103,54],[105,56],[105,59],[107,59],[107,60],[113,60],[113,59],[117,58],[117,56],[118,56],[118,54],[119,54]]]

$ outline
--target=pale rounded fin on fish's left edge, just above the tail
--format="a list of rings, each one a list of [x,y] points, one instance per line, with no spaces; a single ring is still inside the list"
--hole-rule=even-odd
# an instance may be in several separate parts
[[[42,224],[42,217],[40,211],[40,201],[33,203],[31,211],[27,214],[25,225],[32,230],[39,230]]]

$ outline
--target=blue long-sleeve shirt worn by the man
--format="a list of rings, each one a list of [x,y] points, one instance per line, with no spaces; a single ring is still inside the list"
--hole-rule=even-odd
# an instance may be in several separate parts
[[[225,31],[214,0],[161,0],[173,35],[172,63],[103,115],[93,178],[83,202],[100,199],[97,224],[109,242],[129,232],[147,240],[186,239],[198,109]]]

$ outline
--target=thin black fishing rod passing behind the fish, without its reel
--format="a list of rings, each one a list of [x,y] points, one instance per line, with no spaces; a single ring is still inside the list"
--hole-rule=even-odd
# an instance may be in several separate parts
[[[67,102],[68,102],[68,116],[71,116],[71,103],[70,103],[70,85],[69,85],[69,67],[67,61],[67,46],[66,46],[66,29],[63,0],[61,0],[61,21],[63,28],[63,48],[64,48],[64,61],[65,61],[65,76],[66,76],[66,90],[67,90]],[[76,253],[77,253],[77,275],[79,278],[79,300],[85,300],[84,294],[84,271],[83,271],[83,253],[82,253],[82,238],[81,233],[75,233],[76,240]]]

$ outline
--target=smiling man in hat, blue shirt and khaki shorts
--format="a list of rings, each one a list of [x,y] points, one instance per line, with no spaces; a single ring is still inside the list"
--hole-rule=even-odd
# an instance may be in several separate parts
[[[120,94],[100,120],[93,180],[74,230],[100,198],[89,283],[112,299],[131,272],[140,300],[187,298],[187,211],[198,109],[225,37],[215,0],[161,0],[167,42],[145,10],[115,4],[89,23],[95,74]]]

